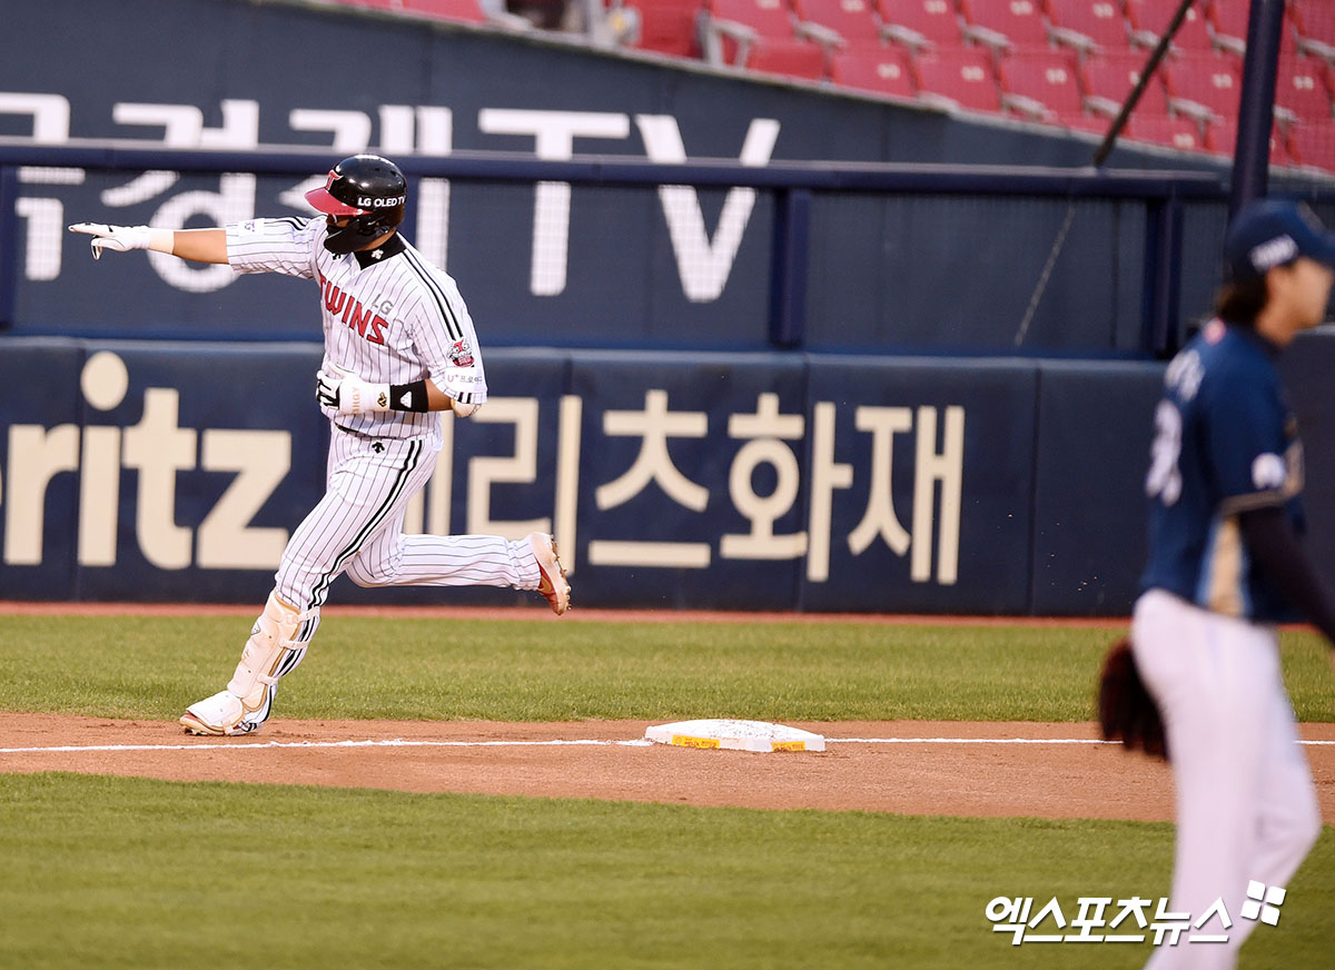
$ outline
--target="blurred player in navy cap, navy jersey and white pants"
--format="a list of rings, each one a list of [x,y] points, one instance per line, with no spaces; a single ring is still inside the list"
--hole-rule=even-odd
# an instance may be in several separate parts
[[[1299,544],[1303,452],[1275,359],[1324,318],[1335,235],[1304,205],[1252,203],[1224,262],[1219,318],[1168,366],[1155,414],[1132,654],[1172,761],[1169,909],[1199,921],[1222,899],[1232,926],[1208,923],[1223,945],[1159,947],[1155,970],[1235,966],[1250,883],[1282,901],[1322,826],[1274,623],[1296,607],[1335,642],[1335,604]]]

